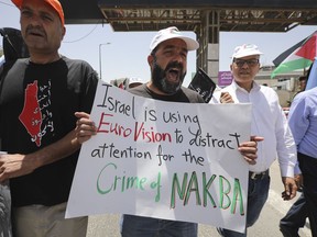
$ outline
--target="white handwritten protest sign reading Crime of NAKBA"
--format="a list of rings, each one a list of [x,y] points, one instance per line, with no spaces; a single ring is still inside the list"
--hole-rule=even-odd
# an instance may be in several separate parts
[[[164,102],[100,82],[66,217],[122,213],[244,232],[250,104]]]

